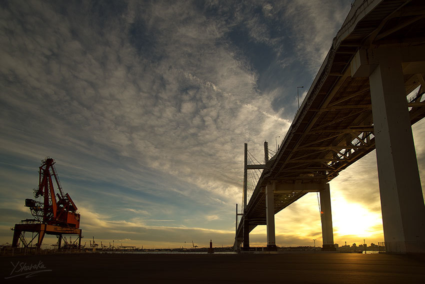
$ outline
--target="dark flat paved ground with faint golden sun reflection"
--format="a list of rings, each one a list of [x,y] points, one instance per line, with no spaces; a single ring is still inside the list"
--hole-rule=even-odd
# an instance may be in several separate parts
[[[354,253],[1,256],[0,282],[425,283],[424,260]],[[19,275],[28,272],[36,273]]]

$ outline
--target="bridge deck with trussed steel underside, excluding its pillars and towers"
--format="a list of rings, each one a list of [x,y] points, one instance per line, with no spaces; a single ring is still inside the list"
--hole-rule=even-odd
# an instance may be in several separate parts
[[[264,187],[279,183],[323,183],[375,149],[368,77],[351,77],[350,63],[365,44],[414,46],[425,43],[423,1],[356,2],[333,40],[306,98],[276,155],[263,170],[246,207],[249,229],[265,224]],[[403,65],[411,123],[425,117],[423,77]],[[405,94],[400,94],[405,95]],[[279,212],[306,192],[274,193]],[[240,239],[243,217],[237,229]]]

